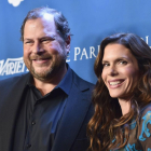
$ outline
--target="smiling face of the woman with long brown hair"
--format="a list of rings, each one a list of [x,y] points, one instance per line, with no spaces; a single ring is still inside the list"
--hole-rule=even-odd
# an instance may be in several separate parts
[[[131,50],[122,44],[110,43],[104,50],[101,78],[110,96],[128,100],[138,82],[137,59]]]

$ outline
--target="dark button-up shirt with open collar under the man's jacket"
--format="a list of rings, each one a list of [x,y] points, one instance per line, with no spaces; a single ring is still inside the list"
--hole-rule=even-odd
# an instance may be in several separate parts
[[[16,121],[14,151],[51,151],[71,83],[72,73],[69,68],[60,83],[42,96],[29,79]],[[20,122],[22,118],[24,122]]]

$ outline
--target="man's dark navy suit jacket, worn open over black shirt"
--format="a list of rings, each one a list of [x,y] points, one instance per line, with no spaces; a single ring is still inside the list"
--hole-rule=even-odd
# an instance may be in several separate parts
[[[93,115],[93,84],[73,71],[72,87],[52,151],[86,151],[86,125]],[[0,82],[0,151],[12,151],[15,121],[29,73]]]

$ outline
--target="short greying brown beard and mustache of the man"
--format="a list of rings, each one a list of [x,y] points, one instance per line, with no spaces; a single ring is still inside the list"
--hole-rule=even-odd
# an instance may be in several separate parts
[[[42,58],[49,59],[49,63],[42,64],[39,67],[33,67],[32,61],[35,59],[42,59]],[[63,52],[61,54],[56,54],[56,55],[35,54],[28,58],[24,57],[24,63],[33,78],[40,81],[50,81],[51,79],[54,79],[57,72],[65,67],[66,58],[67,58],[67,54],[65,52]],[[46,66],[46,69],[42,70],[42,68],[45,66]],[[37,68],[41,68],[41,70],[38,71]]]

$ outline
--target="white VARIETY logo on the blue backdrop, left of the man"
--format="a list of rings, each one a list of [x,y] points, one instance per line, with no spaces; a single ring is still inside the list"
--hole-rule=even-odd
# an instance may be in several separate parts
[[[19,58],[8,58],[4,63],[4,59],[0,60],[0,76],[9,76],[15,73],[22,73],[28,71],[23,57]]]

